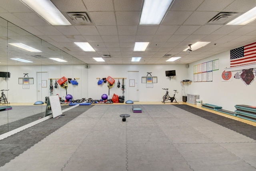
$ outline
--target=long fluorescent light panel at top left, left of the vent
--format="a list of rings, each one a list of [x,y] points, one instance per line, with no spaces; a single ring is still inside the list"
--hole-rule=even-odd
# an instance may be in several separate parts
[[[20,0],[53,26],[72,25],[50,0]]]

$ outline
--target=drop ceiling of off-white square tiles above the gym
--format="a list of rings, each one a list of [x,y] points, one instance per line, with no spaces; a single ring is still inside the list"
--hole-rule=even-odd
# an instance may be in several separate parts
[[[0,17],[86,64],[99,64],[93,58],[102,55],[111,58],[100,64],[189,64],[256,42],[256,22],[224,25],[226,13],[239,16],[256,6],[255,0],[175,0],[160,25],[152,26],[139,25],[143,0],[51,1],[77,21],[51,26],[19,0],[0,0]],[[83,22],[86,17],[90,21]],[[211,43],[189,54],[183,51],[198,41]],[[84,52],[73,42],[89,42],[96,52]],[[133,52],[135,42],[150,44],[145,52]],[[181,58],[166,62],[165,55]],[[132,57],[142,59],[131,62]]]

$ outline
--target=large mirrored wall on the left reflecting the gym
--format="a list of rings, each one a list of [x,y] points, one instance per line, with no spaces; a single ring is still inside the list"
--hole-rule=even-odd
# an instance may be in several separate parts
[[[54,59],[58,59],[58,61]],[[61,60],[61,61],[60,61]],[[0,18],[0,134],[45,115],[46,97],[87,98],[86,64],[14,24]],[[58,84],[62,77],[78,85]],[[4,100],[5,99],[5,100]],[[44,104],[38,104],[38,102]],[[62,103],[62,107],[68,107]]]

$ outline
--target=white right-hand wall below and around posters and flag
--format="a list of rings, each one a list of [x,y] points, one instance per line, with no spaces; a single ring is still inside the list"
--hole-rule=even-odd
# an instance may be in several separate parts
[[[216,59],[219,59],[219,70],[213,71],[212,82],[192,82],[191,85],[188,86],[187,93],[199,94],[202,103],[218,105],[221,106],[222,109],[230,111],[236,110],[234,105],[238,104],[256,106],[256,82],[246,85],[241,79],[234,79],[234,74],[238,71],[232,72],[232,81],[222,82],[222,72],[225,68],[230,67],[230,51],[190,64],[188,68],[189,79],[193,80],[194,65]]]

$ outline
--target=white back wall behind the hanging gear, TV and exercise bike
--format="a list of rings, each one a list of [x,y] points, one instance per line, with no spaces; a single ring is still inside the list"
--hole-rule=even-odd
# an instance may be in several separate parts
[[[171,80],[166,78],[166,70],[176,70],[176,76]],[[139,101],[162,101],[162,97],[165,94],[165,91],[162,88],[169,88],[170,95],[174,93],[174,89],[179,91],[176,94],[177,101],[182,101],[182,86],[180,81],[187,78],[187,68],[184,64],[168,64],[168,65],[90,65],[88,69],[88,97],[92,99],[100,99],[102,94],[108,95],[107,84],[103,83],[98,85],[98,80],[96,78],[112,77],[112,78],[127,78],[128,71],[138,71],[139,78]],[[153,88],[146,88],[146,84],[141,83],[141,77],[147,76],[147,72],[152,72],[152,76],[157,77],[157,83],[153,84]],[[150,75],[148,75],[150,76]],[[125,98],[127,97],[128,92],[128,82],[129,78],[124,80],[125,83]],[[122,85],[122,80],[119,80]],[[136,81],[136,80],[135,80]],[[110,89],[110,96],[115,93],[117,95],[122,95],[121,87],[118,89],[117,82]],[[125,99],[128,100],[128,99]]]

